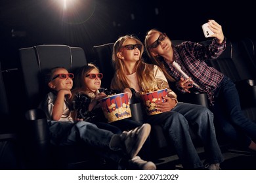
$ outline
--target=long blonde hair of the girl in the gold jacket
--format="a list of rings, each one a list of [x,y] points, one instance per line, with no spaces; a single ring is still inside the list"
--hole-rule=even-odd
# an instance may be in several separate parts
[[[139,40],[139,38],[135,37],[134,35],[125,35],[123,37],[119,37],[119,39],[117,39],[114,44],[112,60],[116,68],[116,79],[112,80],[112,89],[121,91],[124,88],[130,88],[129,82],[125,75],[126,68],[125,64],[123,63],[123,59],[117,57],[117,53],[121,52],[121,49],[123,48],[123,42],[125,42],[127,39],[133,39],[137,42],[137,44],[141,44],[142,46],[140,49],[140,59],[135,65],[136,73],[138,82],[142,84],[142,89],[150,90],[150,83],[152,82],[152,80],[154,80],[154,73],[152,72],[153,67],[144,62],[142,58],[142,54],[144,52],[144,45]]]

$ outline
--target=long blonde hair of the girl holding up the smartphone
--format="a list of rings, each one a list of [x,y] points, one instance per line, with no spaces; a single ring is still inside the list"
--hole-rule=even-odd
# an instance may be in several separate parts
[[[158,29],[151,29],[150,31],[148,31],[146,33],[146,37],[145,37],[145,41],[144,41],[145,48],[146,48],[146,53],[148,54],[148,57],[150,58],[152,63],[158,65],[161,68],[161,70],[163,71],[163,74],[165,75],[167,80],[170,81],[170,82],[175,82],[175,79],[167,73],[167,71],[165,69],[165,65],[160,60],[161,56],[153,56],[152,52],[150,52],[151,48],[150,48],[150,45],[148,45],[148,37],[150,37],[154,33],[162,34],[162,32],[158,31]]]

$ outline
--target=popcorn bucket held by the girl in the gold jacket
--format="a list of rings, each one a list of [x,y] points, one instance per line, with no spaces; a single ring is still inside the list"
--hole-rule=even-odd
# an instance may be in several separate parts
[[[158,108],[156,108],[156,103],[164,102],[162,97],[167,97],[167,88],[140,94],[140,99],[146,108],[146,114],[154,115],[162,113]]]

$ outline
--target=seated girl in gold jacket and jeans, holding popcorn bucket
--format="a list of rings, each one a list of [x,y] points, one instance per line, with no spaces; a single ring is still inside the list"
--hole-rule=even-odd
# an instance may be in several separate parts
[[[114,44],[112,60],[116,73],[111,82],[113,90],[139,95],[154,88],[167,88],[165,102],[157,103],[161,114],[145,116],[151,125],[161,125],[173,144],[184,169],[220,169],[224,158],[215,135],[213,113],[201,105],[181,103],[169,88],[160,67],[145,63],[142,59],[144,46],[133,35],[119,37]],[[131,88],[136,93],[132,93]],[[190,131],[194,131],[205,147],[206,159],[202,163],[192,142]]]

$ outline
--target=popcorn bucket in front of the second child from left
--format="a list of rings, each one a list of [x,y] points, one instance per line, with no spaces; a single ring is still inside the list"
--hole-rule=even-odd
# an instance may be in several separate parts
[[[119,93],[100,99],[100,105],[109,123],[131,117],[127,93]]]

